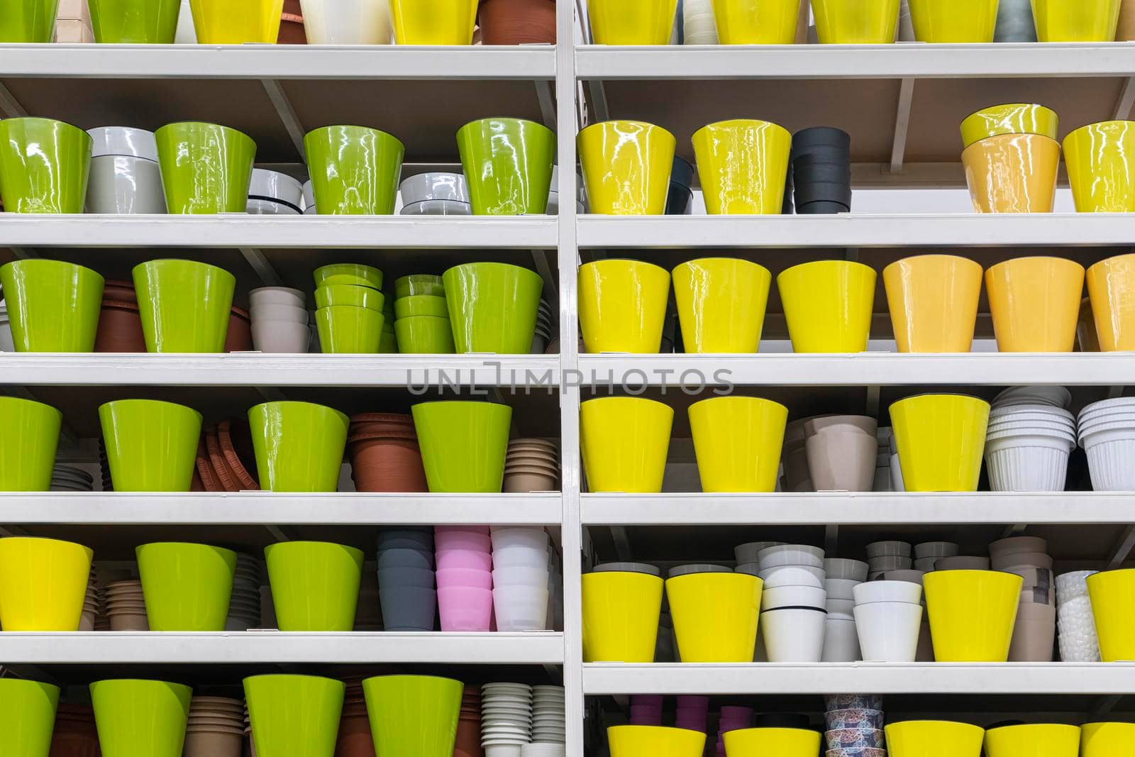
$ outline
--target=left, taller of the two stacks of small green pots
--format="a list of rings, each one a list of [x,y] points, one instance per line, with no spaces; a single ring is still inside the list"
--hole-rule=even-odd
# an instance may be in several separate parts
[[[382,271],[362,263],[335,263],[317,268],[316,326],[319,346],[325,354],[380,352],[382,312]]]

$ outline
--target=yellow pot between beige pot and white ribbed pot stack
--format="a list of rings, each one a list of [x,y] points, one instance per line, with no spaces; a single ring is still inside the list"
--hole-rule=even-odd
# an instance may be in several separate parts
[[[923,394],[891,405],[907,491],[976,491],[990,404],[960,394]]]

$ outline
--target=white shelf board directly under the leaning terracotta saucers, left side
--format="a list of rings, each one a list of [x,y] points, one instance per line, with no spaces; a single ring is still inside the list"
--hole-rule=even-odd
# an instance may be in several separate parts
[[[549,525],[558,524],[562,513],[558,493],[0,493],[0,523],[24,525]]]

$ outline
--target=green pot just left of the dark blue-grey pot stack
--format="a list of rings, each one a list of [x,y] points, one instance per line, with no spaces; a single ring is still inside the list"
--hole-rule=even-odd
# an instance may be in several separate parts
[[[264,547],[280,631],[354,630],[362,550],[327,541]]]

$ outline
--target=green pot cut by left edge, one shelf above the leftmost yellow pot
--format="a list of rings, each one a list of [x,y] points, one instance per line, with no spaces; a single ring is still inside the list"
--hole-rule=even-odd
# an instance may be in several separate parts
[[[64,414],[51,405],[0,397],[0,491],[47,491]]]

